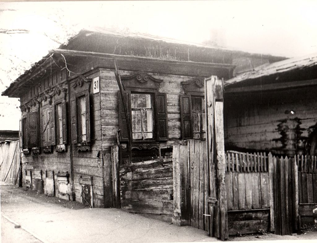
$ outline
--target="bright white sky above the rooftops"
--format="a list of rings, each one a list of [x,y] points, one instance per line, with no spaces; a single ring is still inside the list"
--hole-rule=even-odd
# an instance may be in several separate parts
[[[228,49],[294,57],[317,52],[317,1],[81,1],[0,3],[0,92],[83,28],[103,27]],[[217,38],[216,38],[217,35]],[[19,109],[0,99],[0,129],[18,129]],[[4,116],[2,116],[2,115]],[[6,118],[8,117],[8,119]],[[10,119],[9,119],[10,117]]]

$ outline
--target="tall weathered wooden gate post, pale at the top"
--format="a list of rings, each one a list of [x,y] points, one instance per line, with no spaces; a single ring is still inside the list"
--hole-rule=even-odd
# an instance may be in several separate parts
[[[210,235],[224,240],[228,239],[229,232],[225,185],[223,83],[222,80],[217,79],[217,76],[205,79],[205,102],[207,125],[206,155],[208,156],[210,178],[210,197],[208,201],[215,205],[214,212],[209,212],[211,215]],[[215,169],[213,169],[213,164]],[[215,188],[215,185],[217,185],[217,188]]]

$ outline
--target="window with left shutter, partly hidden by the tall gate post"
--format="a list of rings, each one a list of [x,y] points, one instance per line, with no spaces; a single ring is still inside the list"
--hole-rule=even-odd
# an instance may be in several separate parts
[[[180,95],[181,127],[183,139],[205,139],[204,96]]]

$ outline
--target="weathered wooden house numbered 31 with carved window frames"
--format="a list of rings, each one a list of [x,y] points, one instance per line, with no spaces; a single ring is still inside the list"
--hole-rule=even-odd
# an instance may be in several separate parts
[[[229,80],[234,72],[253,69],[250,63],[283,59],[153,36],[83,30],[49,51],[2,93],[21,100],[23,186],[90,207],[122,207],[171,221],[177,176],[173,146],[179,152],[179,141],[193,139],[193,154],[204,149],[204,78]],[[225,101],[229,115],[237,114],[229,112],[232,102],[226,108]],[[229,122],[228,144],[248,148],[231,142]],[[203,161],[203,156],[197,157],[198,165]],[[190,189],[189,182],[187,189],[204,193],[199,187],[204,167],[188,168],[198,169],[192,174],[195,186]],[[200,199],[203,203],[192,206],[192,215],[203,215],[207,208],[207,199]],[[206,229],[204,220],[205,216],[199,223],[188,222]]]

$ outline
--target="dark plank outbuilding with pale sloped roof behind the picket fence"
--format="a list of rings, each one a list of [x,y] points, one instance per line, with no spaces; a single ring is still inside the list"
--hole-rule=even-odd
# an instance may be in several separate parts
[[[225,81],[226,149],[317,155],[316,62],[291,58]]]

